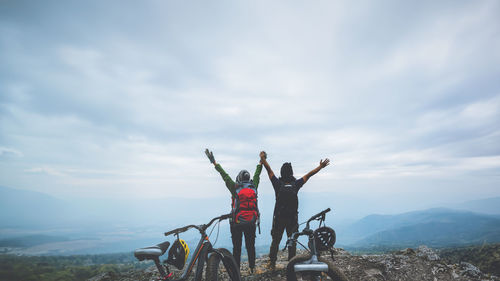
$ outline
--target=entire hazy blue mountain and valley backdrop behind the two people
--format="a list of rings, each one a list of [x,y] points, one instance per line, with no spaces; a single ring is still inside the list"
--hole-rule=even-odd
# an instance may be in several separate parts
[[[300,222],[332,207],[327,225],[336,230],[338,246],[397,248],[426,244],[442,247],[500,242],[500,197],[455,204],[454,209],[369,215],[340,224],[335,222],[342,219],[336,212],[341,206],[339,196],[300,196]],[[259,205],[263,214],[262,234],[257,235],[256,246],[265,253],[270,243],[274,195],[259,196]],[[484,213],[479,213],[480,210]],[[131,251],[162,242],[164,231],[206,223],[228,211],[229,198],[226,197],[69,202],[39,192],[0,187],[0,247],[38,246],[33,251],[22,252],[28,254]],[[231,244],[228,228],[227,222],[221,226],[220,244]],[[196,236],[196,233],[186,234],[185,239]],[[285,240],[283,238],[282,243]]]

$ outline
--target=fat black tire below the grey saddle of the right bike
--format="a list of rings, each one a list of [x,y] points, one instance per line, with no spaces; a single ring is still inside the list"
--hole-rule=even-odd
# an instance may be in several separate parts
[[[311,277],[313,274],[317,274],[317,272],[313,271],[303,271],[301,273],[295,272],[294,266],[297,263],[304,262],[308,259],[311,258],[310,254],[305,254],[305,255],[299,255],[293,257],[289,262],[288,265],[286,266],[286,280],[287,281],[298,281],[298,280],[311,280]],[[328,265],[328,272],[322,273],[323,276],[327,276],[330,279],[321,279],[321,280],[333,280],[333,281],[348,281],[347,277],[342,273],[336,266],[333,265],[332,262],[327,261],[323,258],[318,259],[321,262],[324,262]],[[297,277],[300,277],[297,278]]]

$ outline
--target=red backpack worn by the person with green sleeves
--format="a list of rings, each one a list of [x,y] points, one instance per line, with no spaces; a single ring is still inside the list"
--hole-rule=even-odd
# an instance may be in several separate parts
[[[233,223],[258,223],[257,189],[250,182],[236,185],[236,198],[233,198]]]

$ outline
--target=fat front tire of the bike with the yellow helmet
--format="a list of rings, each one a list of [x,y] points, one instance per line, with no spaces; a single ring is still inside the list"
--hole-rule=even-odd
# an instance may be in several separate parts
[[[224,270],[222,270],[221,261]],[[215,252],[208,257],[205,276],[207,281],[241,281],[240,269],[236,260],[231,252],[224,248],[215,249]]]

